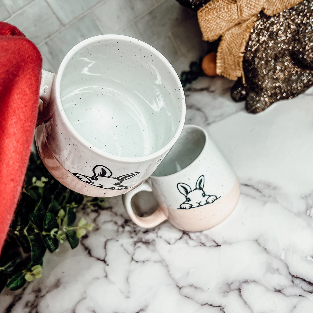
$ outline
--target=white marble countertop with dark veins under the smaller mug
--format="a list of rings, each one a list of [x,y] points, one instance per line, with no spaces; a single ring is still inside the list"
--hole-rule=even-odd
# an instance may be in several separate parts
[[[145,230],[110,198],[82,213],[95,227],[78,248],[47,252],[41,279],[1,293],[2,312],[313,312],[313,90],[252,115],[231,85],[185,91],[186,123],[206,128],[241,183],[224,222]]]

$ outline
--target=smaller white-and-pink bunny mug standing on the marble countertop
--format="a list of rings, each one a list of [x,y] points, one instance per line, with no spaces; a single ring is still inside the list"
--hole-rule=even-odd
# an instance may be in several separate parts
[[[142,191],[152,192],[158,203],[157,210],[149,216],[134,212],[132,199],[139,198]],[[185,125],[153,175],[123,195],[123,202],[133,222],[141,227],[150,228],[169,220],[179,229],[201,231],[225,220],[239,196],[235,173],[206,131]]]

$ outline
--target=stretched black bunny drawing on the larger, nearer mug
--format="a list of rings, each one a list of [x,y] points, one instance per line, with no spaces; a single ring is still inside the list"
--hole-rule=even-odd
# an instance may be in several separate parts
[[[99,188],[113,190],[127,189],[128,186],[122,185],[123,181],[139,174],[139,172],[135,172],[119,177],[112,177],[112,172],[104,165],[96,165],[92,171],[92,176],[86,176],[79,173],[70,173],[75,175],[77,178],[84,181],[85,183],[91,184]]]

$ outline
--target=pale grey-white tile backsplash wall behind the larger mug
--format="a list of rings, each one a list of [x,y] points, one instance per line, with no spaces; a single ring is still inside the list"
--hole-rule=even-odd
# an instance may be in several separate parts
[[[176,0],[0,0],[0,19],[39,46],[43,68],[56,71],[78,42],[123,34],[151,44],[180,75],[206,51],[196,13]]]

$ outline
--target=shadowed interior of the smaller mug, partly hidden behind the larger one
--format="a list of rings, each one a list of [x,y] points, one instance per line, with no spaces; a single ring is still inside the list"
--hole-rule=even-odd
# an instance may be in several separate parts
[[[201,154],[205,143],[206,134],[201,128],[186,125],[152,176],[168,176],[185,169]]]

